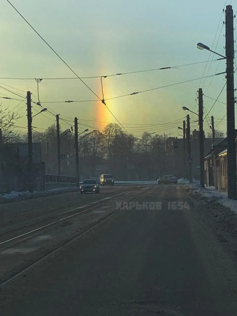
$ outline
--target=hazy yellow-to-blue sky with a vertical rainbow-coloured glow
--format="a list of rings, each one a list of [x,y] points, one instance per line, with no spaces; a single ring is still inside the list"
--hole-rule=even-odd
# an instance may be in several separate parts
[[[212,47],[214,42],[213,50],[224,53],[225,26],[222,24],[224,21],[222,10],[226,4],[232,4],[231,0],[229,2],[200,0],[198,3],[188,0],[169,2],[12,0],[11,2],[78,76],[82,77],[106,76],[217,59],[218,56],[210,55],[208,51],[198,50],[196,44],[203,42]],[[235,13],[237,4],[233,10]],[[6,0],[1,1],[0,11],[1,78],[74,77],[74,74]],[[235,26],[237,26],[236,21],[237,18],[234,21]],[[225,71],[223,60],[177,69],[107,77],[103,78],[104,98],[161,87],[222,71]],[[100,78],[83,80],[102,98]],[[181,133],[177,126],[182,124],[182,120],[188,114],[182,110],[182,106],[197,111],[197,102],[195,103],[197,89],[203,88],[205,95],[215,99],[224,84],[224,75],[220,75],[202,81],[187,82],[108,100],[106,104],[126,130],[137,136],[145,130],[159,133],[165,131],[171,136],[178,136]],[[0,79],[0,86],[21,95],[25,95],[29,90],[33,93],[33,100],[37,101],[37,83],[34,79]],[[116,122],[100,101],[58,103],[65,100],[97,99],[79,79],[43,79],[39,84],[39,91],[41,102],[55,101],[55,103],[45,103],[44,106],[68,121],[66,123],[60,120],[61,130],[72,125],[75,116],[79,119],[81,130],[87,127],[89,130],[102,129],[105,122]],[[21,99],[2,88],[0,93],[0,96],[7,95]],[[207,111],[214,103],[210,98],[204,97]],[[225,98],[224,89],[218,100],[225,102]],[[2,103],[13,109],[20,101],[2,99]],[[26,126],[25,101],[16,107],[16,110],[22,115],[18,125]],[[37,113],[36,110],[40,110],[40,107],[33,105],[33,114]],[[217,129],[223,131],[226,131],[225,112],[225,105],[217,102],[209,114],[214,116]],[[191,122],[196,119],[195,114],[191,114]],[[39,114],[33,119],[33,126],[39,128],[37,131],[43,131],[53,122],[55,122],[53,115],[45,112],[44,116]],[[206,120],[206,133],[208,125],[210,122]],[[198,128],[197,123],[192,123],[191,128]],[[24,130],[21,129],[22,131]]]

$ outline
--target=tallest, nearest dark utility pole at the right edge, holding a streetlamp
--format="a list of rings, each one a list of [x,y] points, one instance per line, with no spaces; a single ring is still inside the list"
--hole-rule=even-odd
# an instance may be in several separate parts
[[[234,113],[234,23],[233,9],[226,6],[226,113],[227,113],[227,159],[228,159],[228,198],[237,199],[236,148]]]

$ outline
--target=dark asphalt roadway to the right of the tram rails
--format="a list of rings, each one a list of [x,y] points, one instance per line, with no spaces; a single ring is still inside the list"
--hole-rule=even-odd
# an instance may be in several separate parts
[[[235,263],[205,222],[205,210],[168,210],[188,199],[157,185],[0,288],[0,314],[237,315]],[[17,259],[17,258],[16,258]]]

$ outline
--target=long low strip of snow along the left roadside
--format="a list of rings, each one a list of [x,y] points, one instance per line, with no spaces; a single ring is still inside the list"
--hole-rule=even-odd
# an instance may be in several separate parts
[[[52,189],[52,190],[47,190],[47,191],[42,191],[42,192],[34,191],[33,193],[30,193],[29,191],[26,191],[26,192],[12,191],[8,194],[7,193],[0,194],[0,203],[27,200],[30,198],[54,195],[54,194],[59,194],[59,193],[64,193],[64,192],[76,192],[78,190],[79,188],[77,187],[65,187],[65,188]]]

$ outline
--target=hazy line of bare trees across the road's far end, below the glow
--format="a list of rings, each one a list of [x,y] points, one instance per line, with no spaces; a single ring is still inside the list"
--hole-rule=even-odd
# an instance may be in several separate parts
[[[93,130],[79,136],[80,174],[83,177],[113,173],[118,179],[151,178],[165,168],[167,135],[144,132],[141,138],[125,133],[110,123],[103,131]],[[57,130],[52,125],[44,133],[33,131],[33,142],[40,142],[46,173],[57,174]],[[73,132],[60,133],[62,174],[75,175],[75,142]]]

